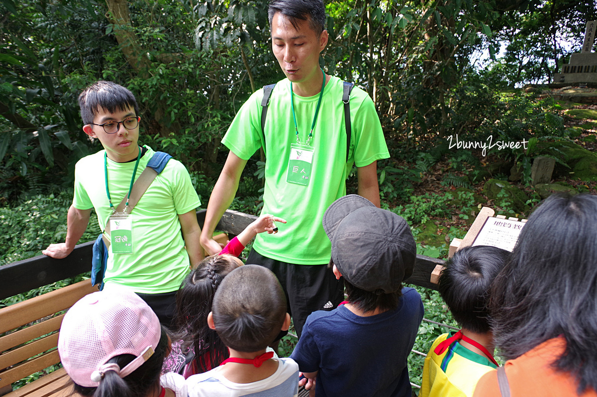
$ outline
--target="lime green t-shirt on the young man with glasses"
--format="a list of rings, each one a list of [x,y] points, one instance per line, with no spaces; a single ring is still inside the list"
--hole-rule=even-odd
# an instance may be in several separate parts
[[[136,179],[153,156],[149,147],[139,161]],[[106,195],[104,152],[79,160],[75,166],[73,207],[96,209],[104,230],[112,210]],[[118,206],[127,195],[135,162],[118,163],[107,159],[108,186],[112,203]],[[104,282],[123,285],[145,294],[176,291],[189,272],[189,255],[184,249],[179,215],[201,203],[189,173],[177,160],[170,159],[133,208],[133,254],[114,254],[112,246]]]

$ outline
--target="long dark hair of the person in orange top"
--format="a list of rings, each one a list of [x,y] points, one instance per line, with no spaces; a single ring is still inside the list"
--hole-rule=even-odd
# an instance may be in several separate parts
[[[550,338],[566,349],[554,368],[597,390],[597,196],[551,195],[533,211],[491,286],[496,346],[504,358]]]

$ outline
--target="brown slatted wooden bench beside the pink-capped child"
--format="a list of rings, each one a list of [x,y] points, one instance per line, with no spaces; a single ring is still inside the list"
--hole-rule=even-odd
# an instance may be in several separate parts
[[[10,392],[11,383],[59,364],[56,346],[64,314],[57,313],[97,290],[85,280],[0,309],[0,334],[7,333],[0,337],[0,390]],[[6,396],[66,396],[69,386],[70,378],[60,368]]]

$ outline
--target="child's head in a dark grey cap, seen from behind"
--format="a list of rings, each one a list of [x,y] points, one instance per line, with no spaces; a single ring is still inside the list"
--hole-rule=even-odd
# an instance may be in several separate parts
[[[404,218],[348,195],[330,205],[323,224],[350,303],[365,312],[394,309],[417,256]]]

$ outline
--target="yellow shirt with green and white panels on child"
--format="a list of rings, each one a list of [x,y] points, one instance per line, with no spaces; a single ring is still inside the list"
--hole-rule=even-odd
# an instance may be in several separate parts
[[[497,368],[485,356],[456,342],[437,355],[433,350],[453,334],[443,334],[433,342],[423,365],[419,397],[472,397],[477,381]]]

